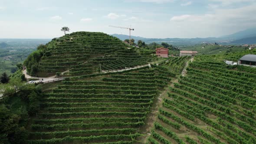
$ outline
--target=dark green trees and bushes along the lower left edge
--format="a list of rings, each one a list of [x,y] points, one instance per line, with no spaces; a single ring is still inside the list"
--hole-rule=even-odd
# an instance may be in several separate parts
[[[26,144],[26,125],[30,116],[40,109],[42,88],[39,85],[25,84],[22,65],[10,77],[0,76],[0,144]]]

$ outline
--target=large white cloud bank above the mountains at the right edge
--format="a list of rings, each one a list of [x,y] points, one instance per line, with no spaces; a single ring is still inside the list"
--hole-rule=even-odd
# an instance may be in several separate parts
[[[172,29],[177,36],[180,35],[178,31],[185,32],[187,37],[222,36],[255,27],[255,7],[253,3],[239,8],[217,7],[205,14],[173,16],[169,26],[177,28]]]

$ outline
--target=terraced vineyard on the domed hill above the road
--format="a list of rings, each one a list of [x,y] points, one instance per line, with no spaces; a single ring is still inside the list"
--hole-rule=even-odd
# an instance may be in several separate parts
[[[70,70],[70,75],[85,75],[145,65],[151,52],[136,52],[127,49],[120,39],[105,33],[76,32],[47,45],[39,61],[39,75]]]

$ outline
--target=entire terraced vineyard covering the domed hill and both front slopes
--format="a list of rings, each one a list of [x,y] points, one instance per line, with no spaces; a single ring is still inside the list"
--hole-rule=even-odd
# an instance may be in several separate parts
[[[70,77],[45,95],[29,144],[256,143],[255,70],[221,62],[245,52],[196,56],[187,72],[188,56],[113,72],[154,56],[104,33],[71,33],[46,47],[39,74]]]

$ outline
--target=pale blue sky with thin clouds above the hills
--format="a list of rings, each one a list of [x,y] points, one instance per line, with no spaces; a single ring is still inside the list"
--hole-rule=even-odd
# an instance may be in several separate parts
[[[0,38],[52,39],[70,32],[146,38],[219,37],[256,26],[256,0],[0,0]]]

